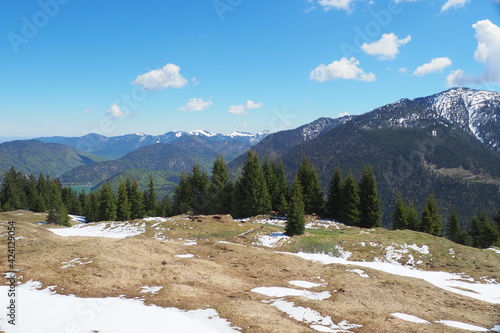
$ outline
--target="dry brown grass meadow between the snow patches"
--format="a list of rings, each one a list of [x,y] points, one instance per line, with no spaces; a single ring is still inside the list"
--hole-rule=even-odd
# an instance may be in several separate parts
[[[23,215],[17,215],[20,213]],[[125,295],[145,298],[148,304],[186,310],[210,307],[241,327],[243,332],[302,333],[316,331],[263,303],[271,298],[251,292],[251,289],[260,286],[296,288],[288,282],[317,281],[314,278],[321,277],[325,285],[311,290],[330,291],[331,298],[314,301],[287,297],[287,300],[295,302],[296,306],[310,307],[323,316],[331,316],[336,323],[348,320],[363,325],[352,330],[354,332],[463,332],[437,323],[412,324],[392,317],[390,313],[393,312],[412,314],[428,321],[455,320],[487,328],[500,323],[500,306],[446,292],[422,280],[363,268],[370,276],[366,279],[346,271],[353,267],[325,266],[252,245],[258,235],[279,230],[274,226],[215,220],[199,223],[179,218],[158,225],[170,229],[163,231],[167,240],[152,239],[159,232],[151,229],[155,222],[147,222],[146,233],[126,239],[63,238],[46,230],[54,226],[33,224],[43,219],[30,212],[0,214],[2,225],[15,220],[17,236],[27,237],[17,242],[16,264],[21,269],[22,280],[38,280],[44,286],[57,285],[56,290],[61,294],[80,297]],[[431,253],[436,253],[434,268],[427,269],[465,271],[471,276],[498,274],[500,260],[492,251],[454,245],[456,259],[453,259],[445,253],[450,244],[442,244],[442,239],[385,230],[370,235],[360,234],[355,228],[341,231],[329,237],[350,251],[359,250],[356,254],[359,258],[379,255],[370,253],[377,249],[360,246],[361,239],[384,244],[404,240],[417,245],[428,244]],[[247,233],[239,236],[244,232]],[[197,245],[184,245],[187,239],[196,240]],[[0,240],[5,248],[5,237]],[[219,243],[220,240],[232,244]],[[175,257],[187,253],[195,257]],[[61,269],[62,262],[74,258],[90,258],[93,262]],[[474,263],[464,262],[470,260]],[[141,294],[144,285],[163,286],[163,289],[156,295]]]

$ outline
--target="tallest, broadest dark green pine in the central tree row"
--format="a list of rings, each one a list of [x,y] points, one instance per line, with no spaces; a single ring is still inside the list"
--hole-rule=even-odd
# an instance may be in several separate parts
[[[234,191],[234,215],[249,217],[271,211],[271,197],[256,153],[249,150]]]

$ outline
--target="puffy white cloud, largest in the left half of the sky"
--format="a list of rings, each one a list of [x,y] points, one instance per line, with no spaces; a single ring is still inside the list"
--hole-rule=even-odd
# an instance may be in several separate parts
[[[166,64],[161,69],[155,69],[139,75],[132,81],[133,85],[143,86],[144,89],[153,91],[165,88],[181,88],[188,81],[180,74],[181,68],[174,64]]]

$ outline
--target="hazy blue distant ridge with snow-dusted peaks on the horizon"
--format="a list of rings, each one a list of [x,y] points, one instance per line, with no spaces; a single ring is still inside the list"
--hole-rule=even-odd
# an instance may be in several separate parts
[[[65,144],[80,151],[106,156],[111,159],[120,158],[136,149],[153,145],[156,143],[172,143],[185,137],[202,137],[210,142],[220,143],[223,141],[238,141],[250,148],[269,134],[262,131],[257,134],[246,132],[232,132],[231,134],[214,134],[205,130],[191,132],[170,131],[162,135],[148,135],[144,133],[126,134],[122,136],[106,137],[104,135],[90,133],[82,137],[42,137],[42,142]]]

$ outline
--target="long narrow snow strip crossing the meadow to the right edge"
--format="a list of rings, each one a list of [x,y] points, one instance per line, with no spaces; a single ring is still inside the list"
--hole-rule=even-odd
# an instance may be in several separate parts
[[[327,254],[317,253],[288,253],[299,256],[306,260],[317,261],[323,264],[342,264],[371,268],[389,274],[422,279],[434,286],[463,296],[475,298],[481,301],[500,304],[500,284],[482,284],[472,281],[464,281],[459,274],[446,272],[422,271],[408,266],[387,262],[361,262],[349,261],[345,257],[332,257]]]

